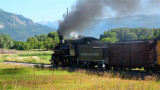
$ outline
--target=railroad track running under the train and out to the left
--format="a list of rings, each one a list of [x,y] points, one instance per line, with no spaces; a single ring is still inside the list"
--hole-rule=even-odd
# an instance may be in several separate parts
[[[13,62],[13,61],[4,61],[4,64],[12,64],[12,65],[22,65],[27,67],[35,67],[36,65],[41,66],[41,63],[26,63],[26,62]],[[140,77],[142,80],[145,79],[146,76],[156,75],[160,80],[160,72],[158,73],[148,73],[143,70],[106,70],[105,68],[86,68],[86,67],[65,67],[65,66],[52,66],[50,64],[43,64],[44,68],[50,69],[59,69],[65,70],[68,72],[77,72],[80,70],[84,70],[89,74],[97,74],[98,76],[103,76],[105,73],[119,73],[129,77]]]

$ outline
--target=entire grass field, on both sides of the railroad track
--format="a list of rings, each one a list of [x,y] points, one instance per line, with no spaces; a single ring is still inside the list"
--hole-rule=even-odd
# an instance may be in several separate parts
[[[114,71],[103,74],[61,68],[40,69],[3,64],[3,61],[49,64],[52,51],[21,51],[0,55],[0,90],[159,90],[156,75],[128,77]]]

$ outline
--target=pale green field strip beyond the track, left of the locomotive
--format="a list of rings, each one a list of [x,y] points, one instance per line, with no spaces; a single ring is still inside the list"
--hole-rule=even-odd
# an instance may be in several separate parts
[[[52,51],[20,51],[16,54],[0,54],[0,62],[16,61],[49,64]]]

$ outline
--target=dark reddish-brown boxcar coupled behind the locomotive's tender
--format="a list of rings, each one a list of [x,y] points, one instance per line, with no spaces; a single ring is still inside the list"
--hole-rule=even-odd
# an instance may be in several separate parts
[[[127,41],[108,44],[109,64],[115,69],[144,68],[156,72],[159,69],[160,41]]]

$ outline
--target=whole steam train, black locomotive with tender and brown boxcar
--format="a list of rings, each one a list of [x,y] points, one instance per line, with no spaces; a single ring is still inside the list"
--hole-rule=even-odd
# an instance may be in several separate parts
[[[63,40],[54,48],[52,65],[99,67],[106,69],[144,68],[158,72],[160,67],[160,41],[142,40],[104,43],[93,37]]]

